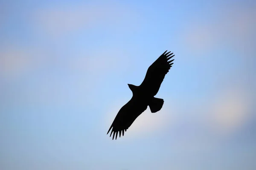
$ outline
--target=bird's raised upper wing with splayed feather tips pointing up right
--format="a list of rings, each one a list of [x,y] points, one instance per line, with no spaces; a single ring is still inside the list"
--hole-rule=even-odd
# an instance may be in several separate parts
[[[173,64],[174,59],[168,60],[175,55],[172,55],[173,53],[169,54],[171,51],[168,53],[166,53],[166,51],[149,66],[145,79],[140,85],[144,89],[147,89],[148,93],[153,96],[157,94],[165,75],[169,72]]]

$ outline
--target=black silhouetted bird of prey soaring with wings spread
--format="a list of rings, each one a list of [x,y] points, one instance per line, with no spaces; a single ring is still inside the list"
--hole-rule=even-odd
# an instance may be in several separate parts
[[[119,110],[108,130],[109,133],[112,128],[110,137],[113,133],[113,139],[115,136],[117,138],[118,133],[119,137],[121,137],[121,132],[122,136],[124,136],[124,131],[126,132],[134,120],[140,116],[148,106],[151,113],[156,113],[163,107],[163,99],[159,99],[154,96],[159,91],[160,85],[163,82],[165,75],[172,67],[174,61],[174,59],[169,59],[175,55],[172,55],[173,53],[170,53],[171,51],[166,52],[167,50],[149,66],[141,85],[136,86],[128,84],[132,91],[132,98]]]

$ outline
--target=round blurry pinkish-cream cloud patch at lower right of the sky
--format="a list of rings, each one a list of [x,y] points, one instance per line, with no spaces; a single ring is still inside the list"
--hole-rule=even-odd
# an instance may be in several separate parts
[[[242,89],[230,89],[209,105],[209,123],[218,134],[230,134],[238,130],[250,117],[250,98]]]

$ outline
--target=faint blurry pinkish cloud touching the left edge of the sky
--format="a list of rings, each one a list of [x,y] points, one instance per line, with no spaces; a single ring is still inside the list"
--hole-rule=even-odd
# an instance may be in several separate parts
[[[39,47],[3,45],[0,47],[0,77],[15,79],[31,76],[38,69],[47,68],[54,62],[49,52]]]

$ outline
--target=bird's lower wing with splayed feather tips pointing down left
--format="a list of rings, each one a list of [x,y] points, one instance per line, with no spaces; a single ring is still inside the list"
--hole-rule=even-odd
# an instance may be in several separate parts
[[[124,136],[124,131],[126,132],[126,130],[134,122],[134,120],[138,116],[140,116],[140,114],[143,113],[146,109],[147,109],[147,105],[143,104],[142,102],[132,97],[131,100],[128,103],[126,103],[117,113],[116,118],[114,119],[111,127],[108,130],[108,133],[109,133],[112,128],[110,137],[113,133],[113,139],[115,135],[117,138],[118,132],[119,132],[119,137],[121,137],[121,132],[122,132],[122,136]]]

